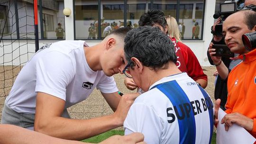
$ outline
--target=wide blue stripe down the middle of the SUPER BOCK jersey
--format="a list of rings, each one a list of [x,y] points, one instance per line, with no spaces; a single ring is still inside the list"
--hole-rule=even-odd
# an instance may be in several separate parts
[[[190,100],[186,93],[182,90],[177,81],[168,81],[157,85],[156,88],[162,91],[168,99],[172,102],[173,106],[177,108],[177,112],[181,115],[182,111],[180,106],[183,106],[184,103],[189,103]],[[183,114],[184,109],[183,109]],[[176,116],[177,118],[177,116]],[[178,119],[178,118],[177,118]],[[195,144],[196,138],[196,126],[195,126],[195,117],[192,110],[189,113],[189,117],[178,119],[179,130],[180,130],[180,144]]]

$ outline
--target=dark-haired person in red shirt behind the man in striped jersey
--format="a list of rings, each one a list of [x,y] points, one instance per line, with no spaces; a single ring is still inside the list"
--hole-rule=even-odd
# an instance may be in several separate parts
[[[139,19],[139,26],[152,26],[160,27],[160,29],[167,34],[167,22],[165,19],[165,14],[161,10],[152,9],[145,12]],[[188,75],[197,83],[201,85],[202,88],[207,86],[207,75],[203,73],[200,63],[198,62],[195,54],[192,50],[184,45],[182,42],[178,42],[174,37],[169,36],[175,47],[175,53],[177,55],[176,66],[182,72],[187,72]],[[126,78],[124,81],[126,87],[129,90],[135,90],[137,84],[130,78]],[[138,91],[143,92],[143,90],[138,89]]]

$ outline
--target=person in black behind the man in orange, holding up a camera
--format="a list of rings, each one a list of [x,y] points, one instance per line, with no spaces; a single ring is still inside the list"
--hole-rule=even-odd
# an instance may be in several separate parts
[[[245,0],[245,8],[249,5],[256,5],[256,0]],[[239,10],[239,9],[238,9]],[[217,21],[212,26],[211,33],[213,34],[213,38],[209,45],[209,49],[207,51],[208,60],[211,65],[215,65],[217,71],[213,73],[214,76],[217,76],[214,98],[221,99],[220,108],[225,109],[225,104],[227,102],[227,80],[229,72],[235,67],[241,60],[231,60],[229,57],[219,57],[213,56],[215,54],[215,49],[212,48],[212,45],[226,45],[224,38],[222,36],[222,25],[220,23],[223,22],[225,18],[218,18]],[[215,26],[219,26],[215,29]],[[212,52],[212,53],[211,53]],[[211,53],[211,54],[210,54]],[[237,56],[238,54],[235,54]]]

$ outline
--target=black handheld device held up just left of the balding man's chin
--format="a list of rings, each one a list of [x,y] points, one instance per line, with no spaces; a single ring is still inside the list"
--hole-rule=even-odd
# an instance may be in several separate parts
[[[216,52],[216,54],[213,54],[213,56],[220,56],[220,57],[235,56],[235,54],[230,51],[227,45],[212,45],[212,48],[214,48]]]

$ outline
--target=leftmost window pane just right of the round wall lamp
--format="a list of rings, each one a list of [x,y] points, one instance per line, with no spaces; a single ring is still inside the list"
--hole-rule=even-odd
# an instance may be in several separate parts
[[[75,38],[96,39],[98,35],[98,1],[75,0]]]

